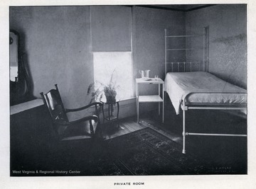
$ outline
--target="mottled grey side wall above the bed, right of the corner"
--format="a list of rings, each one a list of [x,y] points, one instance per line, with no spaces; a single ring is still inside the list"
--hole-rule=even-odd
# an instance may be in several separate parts
[[[186,13],[186,33],[209,26],[209,71],[247,88],[246,4],[216,5]]]

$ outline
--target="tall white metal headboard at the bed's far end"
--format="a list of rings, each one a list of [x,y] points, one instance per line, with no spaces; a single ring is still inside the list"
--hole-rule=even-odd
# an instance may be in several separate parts
[[[167,72],[208,71],[209,27],[200,35],[165,33],[165,75]]]

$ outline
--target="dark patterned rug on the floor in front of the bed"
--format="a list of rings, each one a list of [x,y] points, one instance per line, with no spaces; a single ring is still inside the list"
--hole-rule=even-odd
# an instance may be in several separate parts
[[[105,143],[100,155],[90,163],[92,175],[151,176],[221,174],[195,154],[182,154],[181,146],[147,127]],[[230,171],[230,170],[229,170]],[[237,173],[232,170],[230,173]]]

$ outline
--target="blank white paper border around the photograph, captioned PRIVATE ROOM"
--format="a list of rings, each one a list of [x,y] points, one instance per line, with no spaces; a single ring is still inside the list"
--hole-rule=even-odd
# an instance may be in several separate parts
[[[74,176],[74,177],[10,177],[10,121],[9,121],[9,6],[60,6],[100,4],[247,4],[247,91],[248,91],[248,174],[220,176]],[[4,188],[255,188],[256,101],[255,87],[255,1],[82,1],[82,0],[2,0],[0,2],[0,81],[1,81],[1,132],[0,132],[0,185]],[[142,182],[144,185],[114,186],[114,183]],[[1,188],[2,188],[1,187]]]

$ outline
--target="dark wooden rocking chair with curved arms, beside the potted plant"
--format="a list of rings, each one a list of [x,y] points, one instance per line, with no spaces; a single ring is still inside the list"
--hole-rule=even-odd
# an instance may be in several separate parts
[[[65,109],[60,98],[58,85],[55,84],[55,89],[51,89],[48,93],[40,93],[43,98],[43,103],[48,108],[50,117],[53,123],[53,130],[58,137],[58,141],[69,141],[77,139],[95,139],[96,130],[100,128],[100,118],[98,108],[102,103],[90,103],[81,108]],[[95,106],[95,114],[89,115],[79,120],[69,121],[67,113],[85,110]],[[102,130],[100,131],[102,135]],[[100,136],[102,137],[102,136]]]

